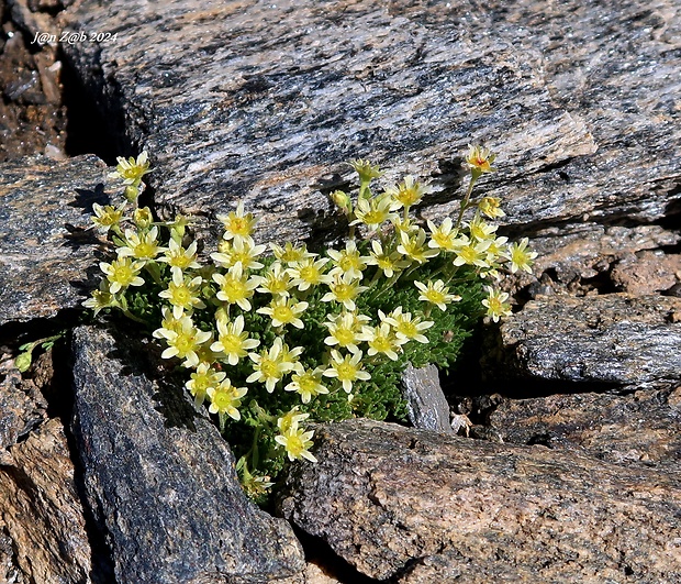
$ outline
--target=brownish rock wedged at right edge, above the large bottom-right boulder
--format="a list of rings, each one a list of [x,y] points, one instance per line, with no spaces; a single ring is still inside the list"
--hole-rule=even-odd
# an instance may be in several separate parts
[[[681,386],[625,396],[506,399],[489,423],[507,443],[571,448],[610,462],[643,462],[681,472]]]

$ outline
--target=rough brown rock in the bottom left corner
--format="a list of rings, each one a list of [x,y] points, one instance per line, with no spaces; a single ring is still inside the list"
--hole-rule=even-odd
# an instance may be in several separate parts
[[[0,582],[103,582],[91,580],[92,550],[74,474],[56,419],[3,453]]]

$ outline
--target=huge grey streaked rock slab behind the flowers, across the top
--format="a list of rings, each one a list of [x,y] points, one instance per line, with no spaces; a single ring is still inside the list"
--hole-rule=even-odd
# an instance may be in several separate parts
[[[258,238],[280,240],[333,227],[320,185],[343,186],[355,157],[387,179],[432,176],[425,213],[456,212],[471,141],[501,153],[483,188],[509,224],[667,214],[681,197],[672,7],[86,0],[62,23],[118,32],[64,49],[123,141],[152,152],[164,212],[243,198]]]

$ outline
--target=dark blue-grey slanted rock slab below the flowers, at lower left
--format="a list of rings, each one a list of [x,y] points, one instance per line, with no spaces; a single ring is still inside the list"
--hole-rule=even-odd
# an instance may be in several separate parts
[[[74,433],[116,582],[246,584],[301,572],[290,526],[248,502],[217,429],[114,335],[121,342],[75,331]]]

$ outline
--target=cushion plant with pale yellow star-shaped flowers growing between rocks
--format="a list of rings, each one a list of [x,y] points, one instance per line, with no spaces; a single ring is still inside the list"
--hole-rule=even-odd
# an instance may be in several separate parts
[[[471,146],[458,218],[425,225],[412,211],[429,185],[405,176],[375,194],[378,167],[351,162],[357,195],[331,196],[350,236],[321,253],[257,243],[257,218],[243,202],[217,216],[223,234],[210,262],[199,257],[186,218],[159,222],[148,208],[94,206],[115,257],[100,264],[104,277],[85,305],[147,324],[156,315],[163,359],[189,371],[187,390],[216,416],[241,455],[242,482],[259,496],[286,459],[315,461],[309,421],[400,418],[395,382],[409,362],[447,366],[483,311],[493,321],[510,313],[509,295],[493,283],[503,271],[531,272],[536,254],[527,240],[498,235],[499,199],[471,199],[492,162]],[[113,173],[135,207],[147,172],[143,153],[120,158]]]

